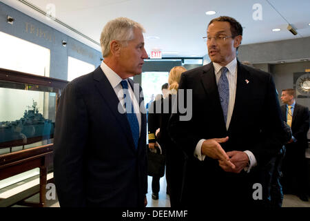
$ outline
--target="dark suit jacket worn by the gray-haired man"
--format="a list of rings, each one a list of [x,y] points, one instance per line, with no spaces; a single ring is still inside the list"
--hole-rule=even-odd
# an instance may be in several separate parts
[[[138,101],[141,104],[143,97]],[[74,79],[63,91],[54,133],[54,180],[61,206],[144,205],[145,111],[136,149],[118,103],[100,67]]]

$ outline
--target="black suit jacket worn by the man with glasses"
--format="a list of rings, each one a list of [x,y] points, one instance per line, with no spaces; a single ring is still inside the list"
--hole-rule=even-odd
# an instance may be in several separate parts
[[[180,113],[172,115],[169,133],[189,157],[189,172],[185,179],[189,184],[185,186],[189,185],[187,195],[192,199],[191,204],[212,202],[216,205],[215,201],[225,204],[227,200],[251,200],[253,184],[262,183],[262,167],[282,147],[282,119],[271,75],[238,62],[237,76],[236,100],[228,131],[213,64],[188,70],[181,76],[178,93],[185,90],[186,95],[188,89],[191,90],[192,119],[180,121]],[[185,104],[190,106],[190,101],[185,99]],[[226,136],[229,136],[228,142],[221,144],[226,152],[249,150],[254,153],[258,166],[250,173],[227,173],[218,166],[217,160],[205,157],[200,162],[194,157],[199,140]],[[242,198],[242,194],[247,196]]]

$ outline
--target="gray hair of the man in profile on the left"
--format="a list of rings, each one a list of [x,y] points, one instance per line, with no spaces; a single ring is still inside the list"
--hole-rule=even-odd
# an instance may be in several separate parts
[[[145,32],[145,29],[140,23],[125,17],[118,17],[117,19],[107,22],[100,37],[103,57],[109,55],[110,44],[113,40],[121,41],[123,46],[127,46],[127,42],[134,39],[134,28],[139,28],[142,32]]]

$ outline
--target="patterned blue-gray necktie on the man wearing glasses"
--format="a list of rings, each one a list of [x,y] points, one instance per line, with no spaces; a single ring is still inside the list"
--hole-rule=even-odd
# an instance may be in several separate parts
[[[220,105],[223,109],[225,124],[227,122],[227,111],[228,111],[228,102],[229,102],[229,83],[226,77],[228,69],[226,67],[220,68],[222,70],[222,75],[218,80],[218,94],[220,95]]]

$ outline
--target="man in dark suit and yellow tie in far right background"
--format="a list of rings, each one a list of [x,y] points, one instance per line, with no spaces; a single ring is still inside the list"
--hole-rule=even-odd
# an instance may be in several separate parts
[[[295,90],[282,90],[281,106],[283,121],[291,126],[293,133],[287,144],[283,159],[282,184],[285,193],[298,195],[300,200],[309,201],[309,181],[307,179],[307,162],[305,157],[308,148],[307,133],[309,131],[309,109],[296,103]]]

